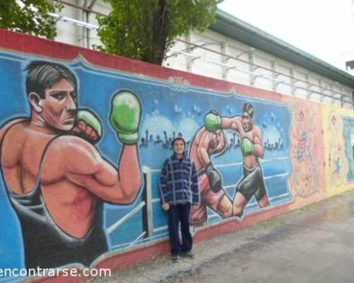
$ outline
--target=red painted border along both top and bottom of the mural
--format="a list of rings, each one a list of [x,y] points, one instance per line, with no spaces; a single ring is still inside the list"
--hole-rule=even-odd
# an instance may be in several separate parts
[[[237,95],[247,96],[249,98],[258,98],[262,100],[271,100],[283,103],[283,96],[274,91],[266,91],[251,86],[244,86],[238,83],[231,83],[219,79],[212,79],[197,74],[190,74],[185,71],[178,71],[166,67],[160,67],[154,64],[139,62],[125,57],[119,57],[112,54],[88,50],[82,47],[75,47],[61,42],[52,40],[45,40],[40,37],[33,37],[24,35],[22,33],[13,33],[8,30],[0,28],[0,50],[9,52],[17,52],[21,54],[28,54],[47,59],[62,59],[66,61],[74,60],[77,57],[84,57],[90,64],[95,67],[108,68],[118,71],[125,71],[132,74],[142,74],[154,79],[168,80],[169,77],[182,77],[187,79],[192,86],[199,86],[202,88],[210,88],[215,91],[230,92],[234,91]],[[229,219],[222,224],[209,226],[198,231],[195,235],[195,242],[203,241],[207,238],[220,235],[222,233],[229,233],[236,231],[250,224],[258,221],[269,219],[271,216],[283,214],[289,211],[290,204],[285,204],[282,207],[275,207],[261,212],[256,212],[247,215],[242,219],[241,223],[234,219]],[[101,260],[96,265],[96,268],[110,268],[112,271],[117,271],[123,267],[135,265],[138,262],[143,262],[153,258],[156,255],[164,255],[169,253],[169,242],[159,241],[150,246],[142,248],[135,248],[127,252],[120,252],[116,255],[108,255],[108,258]],[[84,282],[90,277],[44,277],[33,278],[30,282]]]

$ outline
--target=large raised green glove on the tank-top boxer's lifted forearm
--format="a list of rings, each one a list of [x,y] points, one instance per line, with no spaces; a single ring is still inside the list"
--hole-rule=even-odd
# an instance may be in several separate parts
[[[142,105],[135,93],[120,91],[115,94],[110,110],[110,124],[123,144],[137,143],[141,115]]]

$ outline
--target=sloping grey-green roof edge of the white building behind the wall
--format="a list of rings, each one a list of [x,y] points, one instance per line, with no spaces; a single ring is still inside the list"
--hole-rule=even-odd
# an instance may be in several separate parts
[[[350,88],[354,88],[354,76],[346,73],[346,71],[333,67],[331,64],[299,50],[299,48],[269,33],[265,33],[263,30],[241,21],[227,12],[218,10],[217,22],[210,25],[209,28],[258,50],[263,50],[275,57],[297,64],[300,67],[326,76],[333,81],[338,81],[338,83],[343,83],[346,86],[350,86]]]

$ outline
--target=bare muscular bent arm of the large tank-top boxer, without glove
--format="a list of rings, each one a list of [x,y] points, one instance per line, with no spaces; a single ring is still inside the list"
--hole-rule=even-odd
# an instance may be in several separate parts
[[[42,175],[50,175],[52,182],[67,178],[108,202],[130,204],[142,185],[136,145],[123,145],[119,170],[79,137],[57,138],[47,158],[50,166],[43,168]]]

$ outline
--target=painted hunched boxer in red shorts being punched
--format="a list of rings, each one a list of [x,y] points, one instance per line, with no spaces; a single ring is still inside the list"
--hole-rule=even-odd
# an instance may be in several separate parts
[[[227,141],[222,129],[222,118],[215,111],[205,115],[205,126],[201,127],[193,138],[190,158],[195,162],[200,184],[200,205],[194,207],[190,215],[190,224],[207,224],[207,207],[217,212],[222,218],[233,215],[233,204],[222,188],[222,177],[212,165],[211,156],[220,154],[227,148]]]

